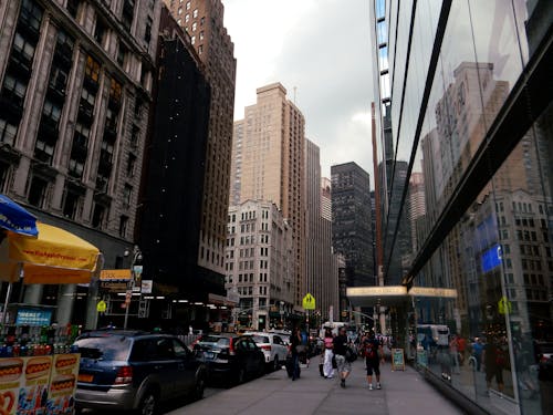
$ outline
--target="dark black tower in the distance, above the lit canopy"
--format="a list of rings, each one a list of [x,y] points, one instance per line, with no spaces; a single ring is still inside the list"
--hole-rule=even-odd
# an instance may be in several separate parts
[[[355,163],[331,166],[332,242],[346,262],[347,287],[375,286],[371,180]]]

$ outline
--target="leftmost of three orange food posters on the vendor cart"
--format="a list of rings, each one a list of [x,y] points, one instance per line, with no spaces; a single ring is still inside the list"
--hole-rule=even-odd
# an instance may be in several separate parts
[[[0,415],[17,414],[23,366],[21,357],[0,359]]]

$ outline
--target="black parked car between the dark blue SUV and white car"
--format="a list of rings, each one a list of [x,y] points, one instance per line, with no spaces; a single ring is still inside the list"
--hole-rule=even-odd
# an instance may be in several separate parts
[[[194,350],[206,364],[210,380],[237,384],[264,373],[265,356],[250,335],[207,334]]]

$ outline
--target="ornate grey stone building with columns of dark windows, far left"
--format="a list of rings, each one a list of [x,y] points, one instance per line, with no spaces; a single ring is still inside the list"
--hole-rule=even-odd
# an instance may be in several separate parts
[[[0,6],[0,190],[127,267],[160,3],[14,0]],[[33,286],[25,302],[95,324],[95,293]],[[85,303],[88,303],[88,307]],[[88,322],[86,322],[88,324]],[[88,324],[90,326],[90,324]]]

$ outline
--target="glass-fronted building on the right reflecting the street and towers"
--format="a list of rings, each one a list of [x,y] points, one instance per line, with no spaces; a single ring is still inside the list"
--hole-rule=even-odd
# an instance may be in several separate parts
[[[417,367],[474,411],[547,413],[553,2],[371,9],[384,281],[456,291],[411,297]]]

